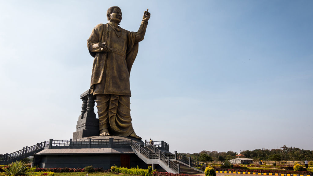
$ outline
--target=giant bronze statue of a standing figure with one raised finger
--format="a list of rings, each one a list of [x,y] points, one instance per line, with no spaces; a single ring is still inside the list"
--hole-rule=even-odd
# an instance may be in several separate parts
[[[110,7],[106,12],[108,23],[98,24],[89,37],[88,49],[94,63],[90,94],[95,97],[99,116],[100,136],[137,136],[130,113],[129,74],[138,53],[138,42],[144,39],[150,13],[144,12],[137,32],[121,28],[122,11]]]

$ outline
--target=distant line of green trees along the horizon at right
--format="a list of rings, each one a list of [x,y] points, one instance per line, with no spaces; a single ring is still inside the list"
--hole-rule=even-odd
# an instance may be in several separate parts
[[[218,152],[218,151],[207,151],[203,150],[200,153],[180,153],[186,157],[191,157],[193,160],[201,162],[212,162],[212,161],[226,161],[236,158],[237,152]],[[254,159],[254,161],[267,160],[267,161],[312,161],[313,150],[304,150],[300,148],[281,148],[281,149],[255,149],[255,150],[243,150],[240,154],[244,155],[245,158]]]

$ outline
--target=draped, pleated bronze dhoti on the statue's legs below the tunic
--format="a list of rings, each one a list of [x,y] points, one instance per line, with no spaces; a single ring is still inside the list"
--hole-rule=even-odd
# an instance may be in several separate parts
[[[129,136],[134,132],[131,124],[130,96],[97,94],[99,130],[108,129],[111,135]]]

